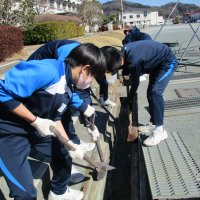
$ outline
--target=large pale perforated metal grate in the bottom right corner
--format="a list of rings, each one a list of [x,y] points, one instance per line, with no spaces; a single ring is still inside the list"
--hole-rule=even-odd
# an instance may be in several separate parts
[[[200,169],[177,132],[142,149],[153,199],[200,198]]]

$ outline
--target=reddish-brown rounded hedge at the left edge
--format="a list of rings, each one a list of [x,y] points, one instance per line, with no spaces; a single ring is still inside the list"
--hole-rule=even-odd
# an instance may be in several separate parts
[[[11,57],[23,48],[23,35],[20,28],[0,25],[0,61]]]

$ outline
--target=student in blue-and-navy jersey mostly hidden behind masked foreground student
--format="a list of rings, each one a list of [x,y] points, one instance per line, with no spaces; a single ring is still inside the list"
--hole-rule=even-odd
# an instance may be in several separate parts
[[[66,57],[69,55],[70,51],[72,51],[75,47],[79,45],[80,43],[75,40],[54,40],[41,46],[27,60],[57,59],[68,62],[66,60]],[[88,84],[82,89],[76,87],[75,85],[70,88],[73,94],[69,103],[70,106],[68,106],[66,112],[62,116],[63,126],[68,133],[68,137],[75,144],[78,144],[80,148],[83,148],[86,151],[92,150],[94,148],[94,143],[84,143],[83,141],[80,141],[79,137],[75,133],[71,107],[78,109],[86,117],[91,117],[94,114],[95,109],[91,107],[90,95],[83,95],[82,92],[82,90],[89,87],[90,82],[88,82]],[[79,98],[79,96],[81,98]]]

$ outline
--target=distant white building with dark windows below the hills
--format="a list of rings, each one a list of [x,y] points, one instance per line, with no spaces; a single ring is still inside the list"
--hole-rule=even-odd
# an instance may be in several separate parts
[[[151,12],[147,9],[137,8],[124,12],[122,22],[124,26],[149,26],[164,22],[164,20],[162,16],[158,16],[158,11]]]

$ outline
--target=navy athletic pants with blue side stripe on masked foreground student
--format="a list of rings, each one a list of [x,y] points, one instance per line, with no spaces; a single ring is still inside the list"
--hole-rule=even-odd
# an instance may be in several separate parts
[[[65,193],[72,166],[65,147],[50,136],[9,134],[0,136],[0,170],[10,188],[10,196],[15,200],[36,200],[37,191],[27,159],[31,149],[51,159],[51,190],[56,194]]]

